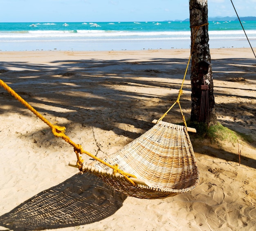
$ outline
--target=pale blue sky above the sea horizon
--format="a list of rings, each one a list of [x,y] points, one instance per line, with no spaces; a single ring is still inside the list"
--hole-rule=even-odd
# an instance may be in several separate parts
[[[232,0],[239,17],[256,0]],[[189,0],[0,0],[0,22],[144,22],[185,20]],[[231,0],[208,0],[208,16],[236,16]]]

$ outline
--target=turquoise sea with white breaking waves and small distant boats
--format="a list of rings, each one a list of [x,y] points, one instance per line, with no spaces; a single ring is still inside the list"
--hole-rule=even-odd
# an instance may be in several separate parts
[[[210,48],[256,47],[256,21],[242,25],[239,21],[209,22]],[[186,21],[0,23],[0,51],[137,51],[190,45]]]

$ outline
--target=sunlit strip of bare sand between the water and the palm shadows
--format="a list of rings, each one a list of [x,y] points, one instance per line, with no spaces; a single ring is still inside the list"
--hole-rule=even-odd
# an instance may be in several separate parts
[[[190,49],[161,49],[161,50],[143,50],[143,51],[0,51],[2,54],[2,62],[16,62],[20,59],[37,60],[46,59],[49,62],[58,59],[65,60],[66,56],[74,56],[76,59],[96,59],[97,57],[104,57],[105,59],[112,60],[115,56],[123,56],[127,60],[134,59],[142,61],[145,58],[154,57],[158,58],[182,58],[188,59]],[[248,58],[254,59],[251,48],[210,48],[211,59],[231,59],[231,58]],[[135,58],[136,57],[136,58]],[[29,61],[31,62],[31,61]],[[3,67],[2,67],[3,68]],[[1,68],[0,68],[1,69]]]

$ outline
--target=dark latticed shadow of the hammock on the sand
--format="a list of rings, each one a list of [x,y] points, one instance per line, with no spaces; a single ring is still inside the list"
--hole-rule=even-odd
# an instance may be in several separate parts
[[[126,196],[86,172],[40,192],[0,217],[11,230],[43,230],[90,224],[114,214]]]

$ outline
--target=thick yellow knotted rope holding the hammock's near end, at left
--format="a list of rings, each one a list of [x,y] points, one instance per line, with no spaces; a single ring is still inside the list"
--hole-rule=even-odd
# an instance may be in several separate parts
[[[43,122],[45,122],[50,128],[52,128],[52,133],[54,134],[54,136],[61,137],[63,140],[65,140],[67,143],[69,143],[70,145],[72,145],[74,147],[74,152],[76,153],[77,165],[79,166],[79,169],[81,168],[81,166],[83,164],[83,159],[81,158],[81,156],[79,156],[79,153],[80,154],[87,154],[91,158],[94,158],[95,160],[99,161],[100,163],[112,168],[114,174],[119,173],[119,174],[123,175],[126,178],[127,181],[129,181],[132,185],[135,185],[135,183],[129,177],[137,178],[136,176],[122,171],[121,169],[118,168],[118,165],[112,166],[109,163],[101,160],[97,156],[94,156],[94,155],[90,154],[90,152],[87,152],[87,151],[83,150],[81,145],[74,143],[65,134],[65,130],[66,130],[65,127],[60,127],[58,125],[53,125],[51,122],[49,122],[47,119],[45,119],[45,117],[43,117],[36,109],[34,109],[29,103],[27,103],[27,101],[22,99],[22,97],[20,97],[20,95],[18,95],[13,89],[11,89],[1,79],[0,79],[0,86],[2,86],[5,90],[7,90],[15,99],[20,101],[20,103],[22,103],[26,108],[28,108],[31,112],[33,112],[38,118],[40,118]]]

